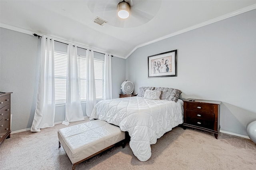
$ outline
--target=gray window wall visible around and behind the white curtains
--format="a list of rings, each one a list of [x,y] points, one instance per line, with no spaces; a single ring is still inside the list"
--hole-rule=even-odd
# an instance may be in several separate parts
[[[11,95],[12,131],[30,128],[36,109],[41,39],[0,28],[0,91]],[[64,45],[65,46],[65,45]],[[58,46],[58,49],[65,49]],[[104,55],[94,53],[95,58]],[[112,57],[112,95],[117,98],[125,80],[125,59]],[[82,103],[86,116],[86,103]],[[54,122],[64,121],[65,106],[56,107]]]

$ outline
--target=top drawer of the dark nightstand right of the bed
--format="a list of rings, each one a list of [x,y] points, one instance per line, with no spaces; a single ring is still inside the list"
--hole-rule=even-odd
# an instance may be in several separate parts
[[[186,110],[214,113],[214,105],[187,102]]]

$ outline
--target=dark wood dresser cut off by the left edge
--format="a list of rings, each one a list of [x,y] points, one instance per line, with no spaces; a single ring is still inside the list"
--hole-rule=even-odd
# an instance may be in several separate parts
[[[0,92],[0,145],[10,138],[11,93]]]

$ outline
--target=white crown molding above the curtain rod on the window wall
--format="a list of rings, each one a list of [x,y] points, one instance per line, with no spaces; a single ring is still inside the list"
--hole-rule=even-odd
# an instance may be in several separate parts
[[[21,32],[21,33],[24,33],[24,34],[28,34],[28,35],[33,35],[34,33],[36,34],[41,34],[42,33],[38,33],[38,32],[32,32],[30,30],[25,30],[23,28],[18,28],[18,27],[15,27],[15,26],[10,26],[10,25],[7,25],[7,24],[3,24],[0,22],[0,27],[2,28],[6,28],[8,30],[13,30],[13,31],[17,31],[17,32]],[[61,38],[57,38],[57,37],[53,37],[53,36],[50,36],[52,38],[54,38],[55,40],[57,41],[60,41],[60,42],[64,42],[64,43],[74,43],[74,42],[69,42],[68,40],[63,40]],[[79,43],[74,43],[76,45],[79,45],[81,47],[85,47],[85,48],[88,48],[88,49],[92,49],[94,51],[97,51],[97,52],[100,52],[100,53],[107,53],[107,51],[104,51],[102,49],[97,49],[97,48],[93,48],[93,47],[88,47],[86,45],[82,45],[82,44],[79,44]],[[113,54],[113,53],[110,53],[111,55],[115,56],[115,57],[119,57],[119,58],[122,58],[122,59],[125,59],[125,57],[121,56],[121,55],[116,55],[116,54]]]

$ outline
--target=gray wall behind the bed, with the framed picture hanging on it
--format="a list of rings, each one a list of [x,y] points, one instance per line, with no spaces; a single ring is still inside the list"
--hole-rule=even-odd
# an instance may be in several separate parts
[[[182,99],[222,101],[220,130],[248,136],[256,120],[256,10],[140,47],[126,59],[126,79],[180,89]],[[148,78],[148,56],[178,49],[178,76]]]

